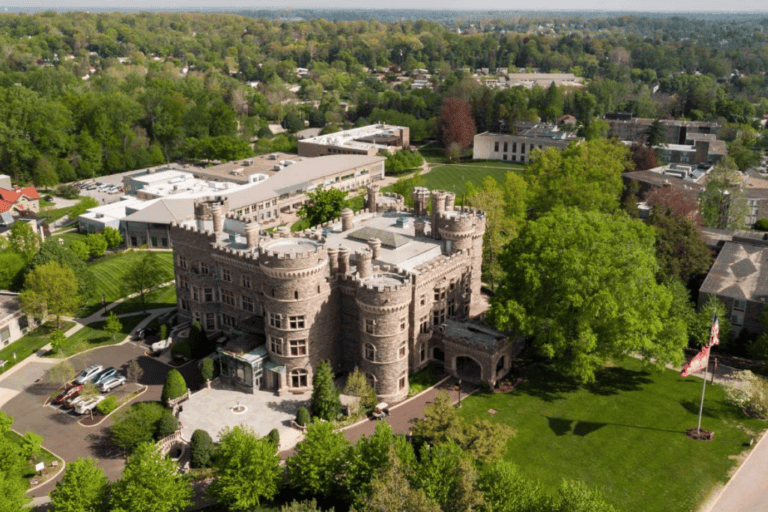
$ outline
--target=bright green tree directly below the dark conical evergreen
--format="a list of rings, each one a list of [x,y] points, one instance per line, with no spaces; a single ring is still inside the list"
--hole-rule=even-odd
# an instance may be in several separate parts
[[[288,480],[300,494],[325,498],[343,488],[342,482],[349,454],[349,441],[333,424],[314,420],[307,435],[298,445],[296,454],[288,459]]]

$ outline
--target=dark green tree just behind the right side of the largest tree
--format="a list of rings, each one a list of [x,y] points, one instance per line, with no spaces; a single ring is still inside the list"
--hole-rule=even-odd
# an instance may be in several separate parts
[[[669,208],[654,207],[648,224],[656,230],[659,276],[677,277],[688,283],[709,270],[712,254],[690,220]]]

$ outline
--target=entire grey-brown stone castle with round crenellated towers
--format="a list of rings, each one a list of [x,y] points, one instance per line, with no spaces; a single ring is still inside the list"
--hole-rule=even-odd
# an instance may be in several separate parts
[[[196,226],[172,227],[179,310],[221,343],[222,377],[300,393],[328,360],[335,372],[359,368],[380,400],[397,402],[430,360],[467,364],[478,381],[506,373],[506,349],[468,343],[462,355],[433,336],[478,306],[484,212],[444,191],[416,188],[413,200],[407,210],[371,185],[364,211],[293,234],[227,215],[225,197],[198,201]]]

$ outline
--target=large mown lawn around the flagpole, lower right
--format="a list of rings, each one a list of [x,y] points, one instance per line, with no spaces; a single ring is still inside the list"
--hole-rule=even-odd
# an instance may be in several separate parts
[[[629,358],[587,387],[534,367],[515,391],[467,397],[460,414],[512,426],[517,436],[505,458],[547,490],[578,479],[619,510],[694,510],[727,481],[733,457],[752,435],[768,426],[728,405],[720,386],[708,385],[702,427],[715,439],[688,439],[701,384],[669,370],[647,371]]]

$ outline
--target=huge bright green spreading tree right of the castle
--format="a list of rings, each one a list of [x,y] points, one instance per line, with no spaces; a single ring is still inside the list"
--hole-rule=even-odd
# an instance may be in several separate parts
[[[530,336],[582,382],[626,352],[678,364],[686,333],[665,326],[672,295],[656,283],[654,239],[652,228],[623,213],[566,208],[528,222],[501,255],[509,270],[491,321]]]

